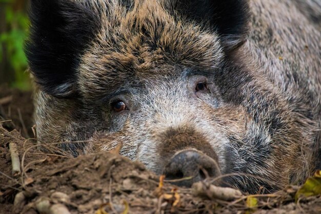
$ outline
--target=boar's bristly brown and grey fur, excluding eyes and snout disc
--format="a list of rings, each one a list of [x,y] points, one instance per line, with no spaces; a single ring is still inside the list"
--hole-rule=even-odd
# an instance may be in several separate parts
[[[321,165],[320,8],[292,2],[33,1],[39,142],[75,156],[123,142],[158,174],[198,149],[253,193],[303,182]]]

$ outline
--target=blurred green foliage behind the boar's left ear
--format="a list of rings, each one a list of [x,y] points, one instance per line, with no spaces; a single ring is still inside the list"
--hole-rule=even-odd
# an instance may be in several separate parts
[[[0,0],[5,5],[5,22],[7,30],[0,33],[0,63],[3,56],[7,55],[9,66],[14,75],[13,82],[9,82],[11,87],[21,90],[31,88],[27,58],[24,53],[24,41],[28,36],[29,19],[24,10],[14,10],[15,0]],[[5,46],[5,48],[3,48]],[[10,71],[5,71],[9,74]]]

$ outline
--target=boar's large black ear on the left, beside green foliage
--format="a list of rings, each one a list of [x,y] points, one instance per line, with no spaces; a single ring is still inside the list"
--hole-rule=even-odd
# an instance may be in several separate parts
[[[25,51],[35,81],[47,94],[77,94],[77,67],[99,28],[89,3],[70,0],[31,0],[30,37]]]

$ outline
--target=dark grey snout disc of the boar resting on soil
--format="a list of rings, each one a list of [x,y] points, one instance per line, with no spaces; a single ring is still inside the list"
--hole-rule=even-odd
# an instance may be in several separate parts
[[[207,175],[216,177],[220,175],[218,165],[214,159],[197,149],[185,149],[177,152],[164,168],[167,180],[181,179],[173,182],[178,186],[190,187],[194,182],[204,180]],[[188,178],[190,179],[183,179]]]

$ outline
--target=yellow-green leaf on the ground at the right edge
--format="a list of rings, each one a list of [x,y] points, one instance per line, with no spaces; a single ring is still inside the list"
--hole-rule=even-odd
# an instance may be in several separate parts
[[[321,195],[321,171],[317,170],[313,177],[307,179],[307,181],[297,190],[295,194],[295,202],[300,197],[309,197]]]

